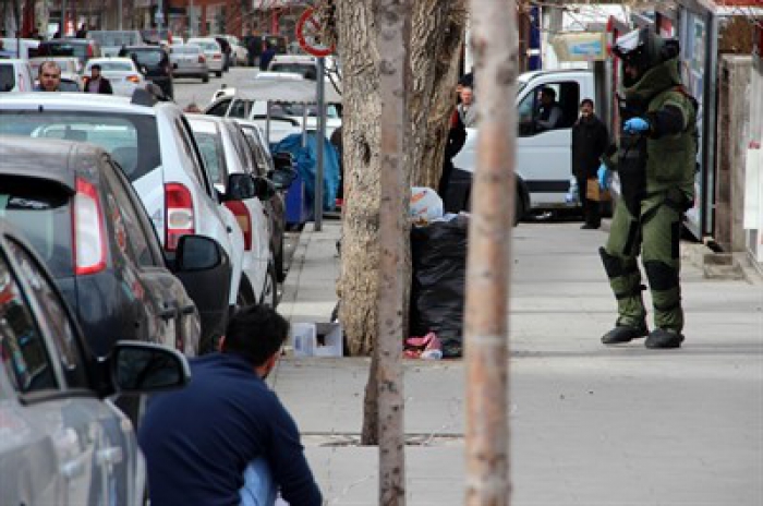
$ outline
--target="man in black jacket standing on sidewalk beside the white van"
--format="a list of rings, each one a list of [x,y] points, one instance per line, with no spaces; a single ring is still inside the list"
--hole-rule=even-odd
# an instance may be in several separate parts
[[[578,180],[580,203],[585,224],[583,230],[594,230],[602,225],[601,202],[586,197],[588,180],[596,178],[601,156],[609,145],[607,126],[593,112],[593,100],[580,103],[580,118],[572,126],[572,173]]]

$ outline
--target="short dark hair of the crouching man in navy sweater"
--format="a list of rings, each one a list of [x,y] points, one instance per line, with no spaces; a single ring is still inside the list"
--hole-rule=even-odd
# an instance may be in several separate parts
[[[235,353],[263,365],[281,349],[289,336],[289,322],[267,305],[240,309],[228,322],[223,353]]]

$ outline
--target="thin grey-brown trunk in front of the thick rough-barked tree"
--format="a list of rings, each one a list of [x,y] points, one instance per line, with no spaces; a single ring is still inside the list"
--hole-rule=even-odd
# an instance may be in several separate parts
[[[379,503],[405,504],[405,436],[402,397],[403,251],[409,201],[405,174],[410,3],[378,0],[377,47],[382,157],[379,213],[378,341],[374,347],[378,388]]]

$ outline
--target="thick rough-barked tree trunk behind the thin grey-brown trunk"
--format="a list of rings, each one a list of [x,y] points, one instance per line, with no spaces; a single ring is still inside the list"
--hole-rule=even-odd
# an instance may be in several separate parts
[[[376,23],[372,0],[338,0],[336,26],[342,59],[344,208],[339,293],[352,354],[371,354],[376,341],[379,210],[379,96]],[[408,183],[437,188],[448,118],[456,104],[464,0],[421,0],[413,5],[409,91]],[[408,250],[408,233],[405,249]],[[410,280],[410,258],[403,278]],[[410,282],[405,282],[408,287]],[[408,289],[404,311],[408,312]]]

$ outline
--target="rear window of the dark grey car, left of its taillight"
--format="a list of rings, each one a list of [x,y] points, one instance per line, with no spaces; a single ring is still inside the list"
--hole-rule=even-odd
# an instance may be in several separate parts
[[[0,176],[0,219],[21,230],[55,277],[73,274],[70,200],[57,183]]]

